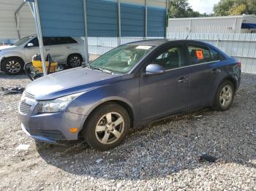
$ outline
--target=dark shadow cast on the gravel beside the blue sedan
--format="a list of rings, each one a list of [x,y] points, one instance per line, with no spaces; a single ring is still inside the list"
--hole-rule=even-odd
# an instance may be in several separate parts
[[[202,152],[217,157],[216,163],[256,168],[253,125],[246,128],[241,126],[243,120],[230,118],[239,117],[240,99],[227,112],[204,109],[131,130],[124,144],[108,152],[83,141],[66,146],[37,144],[37,149],[47,163],[70,174],[102,179],[147,180],[214,165],[199,162]]]

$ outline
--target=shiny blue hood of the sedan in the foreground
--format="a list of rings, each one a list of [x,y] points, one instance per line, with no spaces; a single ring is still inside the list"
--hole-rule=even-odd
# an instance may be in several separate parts
[[[78,67],[49,74],[26,87],[37,100],[49,100],[72,93],[86,92],[118,80],[121,75]]]

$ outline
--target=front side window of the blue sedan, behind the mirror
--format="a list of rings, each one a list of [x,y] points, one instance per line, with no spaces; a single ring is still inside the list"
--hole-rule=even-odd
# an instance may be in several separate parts
[[[184,51],[181,45],[176,47],[170,47],[165,52],[157,55],[157,58],[153,60],[153,63],[157,63],[165,70],[177,69],[185,66]]]

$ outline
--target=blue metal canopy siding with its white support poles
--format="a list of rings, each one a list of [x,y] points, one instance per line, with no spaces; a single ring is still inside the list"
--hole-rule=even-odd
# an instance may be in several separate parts
[[[129,4],[127,0],[24,1],[29,3],[35,18],[44,75],[47,70],[42,36],[85,36],[86,64],[89,62],[89,35],[118,36],[119,45],[121,34],[166,36],[168,0],[139,0],[135,4]],[[157,4],[157,7],[149,7],[149,3]]]

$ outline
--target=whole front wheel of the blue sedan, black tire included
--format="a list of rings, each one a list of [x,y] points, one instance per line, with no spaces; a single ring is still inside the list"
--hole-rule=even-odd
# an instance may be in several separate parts
[[[130,118],[124,107],[114,103],[104,104],[91,114],[82,136],[91,147],[105,151],[121,144],[129,128]]]

